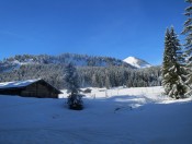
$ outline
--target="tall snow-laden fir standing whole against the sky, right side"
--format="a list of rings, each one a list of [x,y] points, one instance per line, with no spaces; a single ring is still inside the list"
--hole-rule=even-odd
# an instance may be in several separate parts
[[[165,53],[162,63],[162,85],[165,92],[172,98],[184,98],[187,86],[184,84],[182,50],[173,27],[167,29],[165,37]]]

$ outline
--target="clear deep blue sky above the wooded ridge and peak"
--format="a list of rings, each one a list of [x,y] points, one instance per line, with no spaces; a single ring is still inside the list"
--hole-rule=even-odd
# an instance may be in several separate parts
[[[72,52],[160,64],[166,28],[181,33],[187,5],[184,0],[0,0],[0,59]]]

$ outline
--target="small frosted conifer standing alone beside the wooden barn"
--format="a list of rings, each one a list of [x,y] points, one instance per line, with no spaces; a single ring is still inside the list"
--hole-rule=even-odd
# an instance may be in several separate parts
[[[65,85],[67,88],[68,105],[70,109],[82,109],[82,99],[79,95],[78,74],[72,63],[66,65]]]

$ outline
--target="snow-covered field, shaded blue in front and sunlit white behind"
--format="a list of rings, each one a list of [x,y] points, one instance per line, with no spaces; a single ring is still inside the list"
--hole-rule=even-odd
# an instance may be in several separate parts
[[[92,88],[84,109],[59,99],[0,95],[0,144],[192,144],[192,98],[162,87]]]

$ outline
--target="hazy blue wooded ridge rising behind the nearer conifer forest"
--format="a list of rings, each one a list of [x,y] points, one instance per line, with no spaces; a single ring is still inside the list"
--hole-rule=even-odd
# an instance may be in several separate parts
[[[0,72],[12,71],[27,64],[64,64],[72,62],[77,67],[125,67],[133,65],[112,57],[99,57],[77,53],[50,55],[16,55],[0,61]]]

